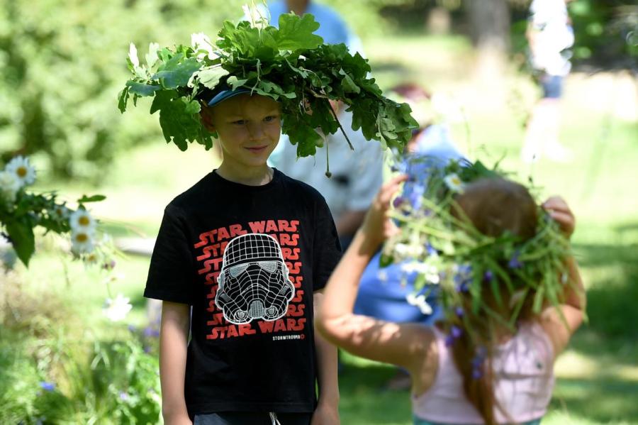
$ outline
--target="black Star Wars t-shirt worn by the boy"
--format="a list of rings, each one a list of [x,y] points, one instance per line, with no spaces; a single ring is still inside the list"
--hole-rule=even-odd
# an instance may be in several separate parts
[[[189,414],[313,412],[313,292],[341,255],[319,192],[211,172],[164,211],[145,297],[191,304]]]

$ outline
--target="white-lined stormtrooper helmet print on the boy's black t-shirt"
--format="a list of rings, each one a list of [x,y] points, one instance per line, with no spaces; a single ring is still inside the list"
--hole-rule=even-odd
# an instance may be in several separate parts
[[[215,304],[232,324],[274,321],[286,315],[295,287],[275,238],[248,233],[224,250]]]

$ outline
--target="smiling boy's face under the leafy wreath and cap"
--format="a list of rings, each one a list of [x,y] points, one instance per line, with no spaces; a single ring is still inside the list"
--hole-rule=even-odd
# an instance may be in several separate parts
[[[279,143],[281,111],[267,96],[238,94],[213,108],[205,108],[202,121],[216,131],[223,162],[235,167],[259,167]]]

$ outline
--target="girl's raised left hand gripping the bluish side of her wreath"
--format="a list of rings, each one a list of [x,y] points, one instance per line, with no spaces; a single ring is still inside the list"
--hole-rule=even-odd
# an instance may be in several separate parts
[[[366,238],[376,246],[397,231],[396,225],[388,218],[388,209],[390,209],[390,202],[394,194],[405,180],[408,180],[408,176],[401,175],[381,186],[366,214],[361,230]]]

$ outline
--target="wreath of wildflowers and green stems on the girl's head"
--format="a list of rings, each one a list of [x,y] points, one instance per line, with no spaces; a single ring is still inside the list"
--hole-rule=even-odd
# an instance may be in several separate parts
[[[449,345],[466,331],[474,346],[483,347],[488,341],[478,336],[477,318],[493,318],[499,326],[514,330],[525,303],[532,303],[535,314],[547,304],[558,307],[564,286],[571,285],[565,265],[571,248],[558,223],[536,201],[537,225],[531,238],[481,233],[469,220],[453,214],[458,205],[455,198],[466,185],[484,178],[505,178],[505,173],[498,170],[498,164],[488,169],[480,161],[439,161],[441,166],[432,166],[432,161],[421,157],[408,162],[408,175],[413,174],[410,167],[418,168],[418,162],[429,162],[427,179],[408,180],[403,194],[394,200],[391,216],[400,231],[386,241],[381,265],[403,263],[406,272],[417,274],[415,294],[408,302],[422,311],[431,310],[425,299],[435,291]],[[533,185],[528,189],[535,192]],[[485,301],[482,292],[486,287],[498,305],[509,300],[509,318]]]

